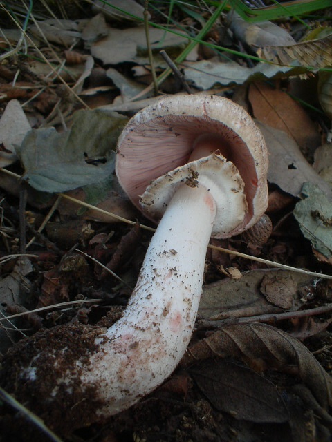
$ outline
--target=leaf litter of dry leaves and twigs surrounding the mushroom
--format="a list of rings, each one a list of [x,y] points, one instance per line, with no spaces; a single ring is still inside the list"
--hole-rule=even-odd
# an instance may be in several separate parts
[[[42,314],[36,325],[42,321],[44,327],[75,321],[98,323],[105,313],[112,316],[112,311],[113,318],[118,318],[116,309],[125,305],[130,294],[125,284],[93,267],[84,254],[73,253],[72,247],[98,258],[131,283],[136,280],[149,242],[147,233],[138,236],[135,228],[128,231],[120,224],[110,223],[110,217],[91,207],[80,208],[65,198],[55,204],[57,195],[53,194],[66,192],[77,200],[120,211],[126,218],[144,222],[122,195],[113,175],[114,148],[127,117],[155,99],[149,87],[153,67],[145,30],[137,26],[144,15],[136,2],[131,2],[130,7],[129,2],[124,5],[111,1],[108,6],[99,1],[94,3],[94,13],[98,13],[94,17],[89,12],[84,18],[39,19],[37,24],[28,25],[28,52],[39,48],[52,65],[33,59],[15,59],[12,66],[0,65],[1,102],[8,104],[6,111],[3,106],[0,119],[0,165],[10,166],[23,178],[17,182],[10,177],[10,181],[1,174],[1,256],[17,253],[19,238],[23,241],[19,230],[25,229],[28,239],[35,238],[30,250],[37,257],[28,261],[27,273],[20,261],[12,268],[2,265],[1,301],[11,303],[8,312],[15,312],[22,306],[30,311],[34,306],[54,305],[62,300],[106,300],[102,307],[95,303],[89,309]],[[137,6],[138,11],[134,12]],[[127,12],[119,12],[117,8]],[[179,6],[175,2],[174,8],[174,32],[149,28],[154,68],[158,72],[167,68],[158,54],[160,48],[171,59],[177,59],[192,33],[209,19],[206,11],[198,19],[192,5]],[[165,8],[163,13],[167,17],[170,12]],[[136,23],[131,15],[138,18]],[[160,20],[164,25],[161,17],[149,9],[150,21]],[[243,105],[259,120],[257,124],[270,151],[268,214],[272,231],[259,244],[255,236],[248,240],[243,235],[223,246],[235,251],[250,250],[257,256],[277,258],[318,273],[331,273],[332,191],[331,180],[324,179],[329,176],[329,162],[324,160],[331,156],[329,146],[318,157],[329,121],[326,123],[322,114],[309,112],[296,102],[296,97],[285,92],[289,75],[308,75],[306,66],[302,70],[291,66],[295,59],[315,69],[331,65],[326,61],[329,50],[324,49],[331,37],[302,43],[297,27],[287,19],[282,23],[252,24],[235,15],[233,19],[230,17],[231,14],[222,14],[217,23],[221,28],[207,34],[205,44],[200,44],[199,50],[192,50],[178,64],[193,93],[203,91],[235,97],[236,85],[243,85]],[[313,26],[310,19],[304,19]],[[3,30],[6,35],[6,28]],[[21,34],[15,32],[8,30],[8,40],[3,41],[8,51],[19,42]],[[228,39],[223,40],[225,34]],[[228,52],[224,41],[234,53]],[[52,46],[46,49],[45,42]],[[208,45],[213,46],[210,56],[202,49]],[[313,48],[319,49],[317,58],[312,57]],[[256,55],[270,57],[277,64],[266,64]],[[324,94],[322,107],[329,117],[329,72],[320,76],[327,86],[318,87],[317,94],[319,91]],[[269,79],[268,85],[261,82],[265,79]],[[69,88],[62,87],[62,81]],[[301,88],[305,97],[306,80],[301,81]],[[71,95],[71,90],[76,95]],[[178,93],[183,90],[183,84],[171,76],[160,84],[159,90]],[[17,99],[24,104],[24,111]],[[86,110],[79,110],[82,103]],[[53,127],[47,127],[50,124]],[[314,157],[315,169],[311,165]],[[23,189],[29,211],[22,209]],[[15,206],[17,198],[21,198],[21,209],[18,204]],[[278,202],[272,202],[273,198],[278,198]],[[42,218],[52,204],[51,221],[42,233]],[[85,221],[91,219],[92,224]],[[24,249],[24,242],[20,247]],[[184,371],[174,374],[178,383],[167,382],[129,412],[110,419],[107,428],[100,424],[100,440],[109,437],[122,440],[129,433],[135,440],[147,441],[249,441],[255,437],[258,441],[279,441],[281,435],[285,441],[329,439],[328,372],[332,369],[329,283],[319,276],[313,279],[300,273],[275,271],[239,257],[223,260],[221,253],[218,259],[208,254],[197,330],[179,368]],[[227,265],[223,265],[226,261]],[[27,284],[30,282],[37,289],[32,298],[21,291],[22,279],[15,280],[12,289],[12,278],[17,271],[23,272]],[[15,302],[19,302],[18,307]],[[3,310],[3,314],[8,312]],[[251,318],[262,323],[246,323]],[[17,322],[18,327],[24,324]],[[216,327],[219,330],[212,332]],[[32,333],[32,329],[28,330],[28,334]],[[21,332],[7,330],[5,334],[17,340]],[[327,342],[325,347],[323,340],[324,345]],[[11,341],[6,343],[10,345]],[[318,363],[306,345],[324,352],[326,358]],[[4,422],[1,419],[0,413],[0,425]],[[6,422],[6,434],[15,437],[15,431],[19,430],[13,425]],[[304,427],[312,429],[311,435]],[[261,439],[262,429],[268,434],[265,439]],[[279,439],[275,439],[276,434]],[[84,440],[93,438],[93,430],[87,429]]]

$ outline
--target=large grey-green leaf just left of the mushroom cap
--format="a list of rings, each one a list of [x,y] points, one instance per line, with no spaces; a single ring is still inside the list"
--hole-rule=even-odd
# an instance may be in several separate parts
[[[24,179],[39,191],[55,193],[102,182],[114,170],[116,141],[127,117],[107,111],[77,111],[66,133],[54,128],[29,131],[17,148]]]

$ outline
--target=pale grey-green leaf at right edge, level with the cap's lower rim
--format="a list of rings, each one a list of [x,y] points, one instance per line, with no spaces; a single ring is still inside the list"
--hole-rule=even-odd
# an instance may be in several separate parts
[[[302,195],[304,199],[297,202],[294,216],[304,237],[332,264],[332,204],[312,183],[304,184]]]

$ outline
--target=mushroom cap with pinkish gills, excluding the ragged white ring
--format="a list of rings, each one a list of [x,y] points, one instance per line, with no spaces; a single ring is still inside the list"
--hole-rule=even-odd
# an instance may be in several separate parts
[[[194,146],[210,143],[210,151],[232,162],[244,182],[248,211],[230,234],[251,227],[268,201],[268,151],[263,135],[248,113],[230,99],[216,95],[172,95],[131,118],[118,140],[116,174],[138,209],[151,181],[187,164]],[[167,201],[165,201],[167,204]],[[156,219],[150,210],[149,218]],[[225,238],[225,234],[221,234]]]

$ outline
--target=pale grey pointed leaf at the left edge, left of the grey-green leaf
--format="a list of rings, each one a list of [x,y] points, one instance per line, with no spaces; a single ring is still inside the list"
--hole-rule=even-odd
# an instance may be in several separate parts
[[[30,128],[28,118],[19,101],[10,100],[0,119],[0,144],[3,145],[0,147],[0,167],[17,161],[15,146],[21,145]]]

